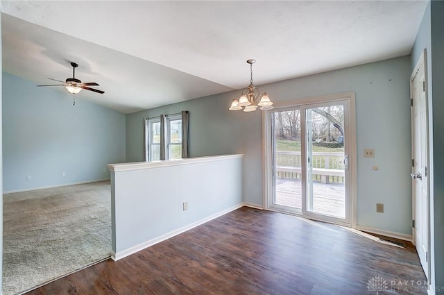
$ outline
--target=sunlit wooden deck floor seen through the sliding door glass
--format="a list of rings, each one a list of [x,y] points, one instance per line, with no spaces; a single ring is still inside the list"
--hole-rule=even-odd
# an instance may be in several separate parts
[[[313,212],[345,218],[345,185],[313,183]],[[293,208],[302,206],[300,179],[276,178],[276,203]]]

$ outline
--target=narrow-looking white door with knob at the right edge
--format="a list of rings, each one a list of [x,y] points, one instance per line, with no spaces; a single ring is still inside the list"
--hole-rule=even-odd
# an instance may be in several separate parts
[[[413,242],[425,276],[429,275],[429,189],[427,179],[427,96],[423,54],[410,79],[412,117]]]

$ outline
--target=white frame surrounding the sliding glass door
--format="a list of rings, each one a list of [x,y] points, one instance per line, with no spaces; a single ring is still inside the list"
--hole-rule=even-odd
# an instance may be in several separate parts
[[[349,134],[348,138],[350,140],[349,146],[350,151],[348,153],[348,162],[349,162],[349,182],[350,182],[350,220],[345,226],[351,226],[352,228],[357,228],[357,144],[356,144],[356,114],[355,114],[355,92],[348,92],[343,94],[334,94],[328,96],[316,96],[307,99],[301,99],[297,101],[282,101],[275,103],[273,106],[275,108],[289,108],[289,107],[300,107],[307,105],[314,105],[316,103],[333,103],[334,101],[344,101],[348,100],[349,103]],[[271,111],[266,110],[262,112],[262,133],[264,135],[264,140],[262,144],[262,154],[264,158],[264,167],[263,167],[263,178],[264,178],[264,195],[263,195],[263,203],[264,210],[277,211],[274,208],[271,208],[269,204],[268,196],[273,194],[273,185],[271,185],[273,180],[273,155],[271,151],[272,144],[272,133],[271,133]],[[302,142],[301,142],[302,144]],[[309,217],[311,219],[316,219],[316,217]],[[326,221],[323,219],[323,221]]]

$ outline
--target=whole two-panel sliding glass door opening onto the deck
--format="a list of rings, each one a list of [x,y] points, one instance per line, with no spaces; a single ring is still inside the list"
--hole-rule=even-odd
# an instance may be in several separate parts
[[[350,99],[268,111],[267,207],[351,225]]]

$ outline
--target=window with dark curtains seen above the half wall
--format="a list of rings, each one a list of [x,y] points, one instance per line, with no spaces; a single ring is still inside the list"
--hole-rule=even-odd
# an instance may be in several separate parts
[[[188,158],[188,112],[144,121],[146,161]]]

